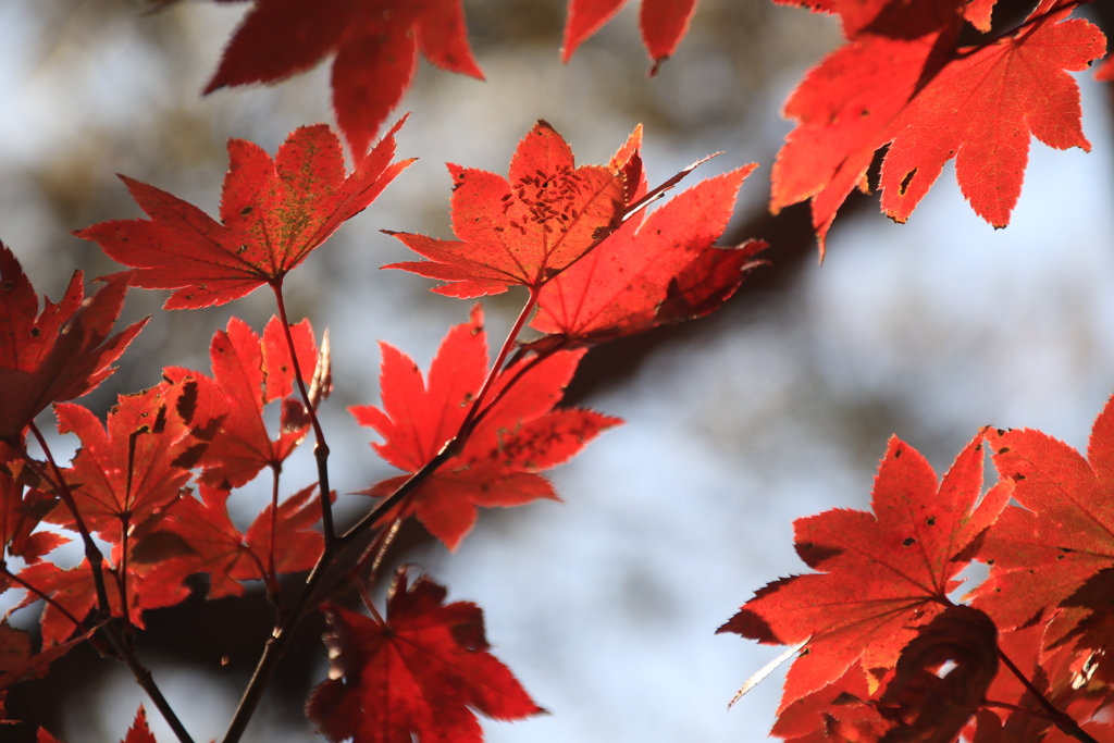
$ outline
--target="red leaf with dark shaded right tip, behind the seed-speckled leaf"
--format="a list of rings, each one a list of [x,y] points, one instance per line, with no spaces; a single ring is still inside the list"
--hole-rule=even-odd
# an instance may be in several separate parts
[[[598,343],[665,322],[703,316],[761,262],[766,244],[713,247],[734,209],[749,165],[709,178],[648,218],[632,216],[606,242],[546,284],[530,326],[567,344]],[[544,342],[544,341],[543,341]]]

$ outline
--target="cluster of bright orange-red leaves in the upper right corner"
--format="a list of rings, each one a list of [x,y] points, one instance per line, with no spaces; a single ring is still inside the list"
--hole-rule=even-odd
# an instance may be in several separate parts
[[[1074,0],[1042,0],[997,35],[994,0],[779,1],[839,14],[847,38],[785,102],[798,125],[772,176],[773,212],[812,199],[821,255],[837,209],[868,188],[867,169],[887,145],[879,185],[888,216],[908,219],[955,158],[964,196],[995,227],[1009,223],[1020,195],[1030,134],[1057,149],[1091,149],[1067,71],[1102,57],[1106,40],[1068,18]],[[965,21],[985,40],[959,46]]]

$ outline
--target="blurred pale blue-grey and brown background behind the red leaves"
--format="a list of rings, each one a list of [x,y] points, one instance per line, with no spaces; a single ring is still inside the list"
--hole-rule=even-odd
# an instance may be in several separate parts
[[[344,493],[395,473],[368,447],[373,432],[345,412],[379,402],[375,341],[424,369],[448,327],[467,317],[469,303],[429,293],[431,282],[379,271],[409,260],[382,228],[451,237],[443,163],[506,173],[537,118],[580,163],[606,162],[643,123],[651,183],[712,151],[724,154],[694,182],[760,163],[722,243],[765,238],[774,266],[755,272],[712,317],[587,356],[567,401],[627,424],[551,473],[565,502],[486,511],[451,556],[409,528],[392,560],[427,570],[450,599],[483,607],[495,653],[550,712],[485,721],[488,741],[761,740],[778,675],[725,707],[778,649],[714,630],[754,589],[803,568],[792,549],[794,518],[867,507],[891,434],[941,472],[988,423],[1086,446],[1114,388],[1107,91],[1078,77],[1093,151],[1034,141],[1007,229],[970,212],[949,167],[905,226],[880,216],[876,198],[851,198],[819,266],[807,206],[771,217],[764,204],[790,128],[781,102],[839,42],[837,23],[765,0],[701,0],[677,55],[647,79],[636,3],[568,66],[558,60],[564,6],[465,0],[487,81],[422,62],[399,135],[399,156],[420,162],[289,278],[292,319],[309,316],[332,334],[333,482]],[[1096,18],[1106,10],[1095,8]],[[140,215],[114,173],[215,214],[227,138],[274,151],[295,127],[332,121],[328,66],[275,87],[198,97],[244,4],[187,0],[147,10],[138,0],[0,3],[0,238],[51,299],[75,268],[95,277],[117,267],[69,235]],[[208,371],[208,340],[231,314],[258,331],[273,312],[266,292],[192,313],[159,311],[165,296],[129,294],[123,321],[154,317],[120,371],[84,400],[99,414],[116,394],[157,383],[163,365]],[[512,291],[483,301],[492,336],[510,326],[522,299]],[[75,443],[55,446],[66,452]],[[287,466],[287,492],[315,479],[309,454]],[[267,500],[265,487],[237,492],[237,524]],[[364,506],[342,496],[341,518]],[[273,614],[257,593],[205,602],[204,584],[198,589],[147,615],[140,657],[203,741],[223,733]],[[37,610],[13,622],[31,627]],[[326,673],[322,629],[307,623],[245,740],[312,734],[302,704]],[[140,702],[123,666],[82,648],[47,680],[12,690],[7,706],[10,717],[60,740],[92,743],[123,737]],[[156,736],[172,741],[149,715]],[[4,726],[0,737],[32,740],[35,730]]]

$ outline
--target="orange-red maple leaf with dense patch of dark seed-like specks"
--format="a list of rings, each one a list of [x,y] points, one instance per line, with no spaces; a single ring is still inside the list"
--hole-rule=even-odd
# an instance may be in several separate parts
[[[623,174],[576,167],[546,121],[519,143],[509,182],[459,165],[449,173],[459,239],[388,232],[429,261],[383,266],[449,282],[432,290],[449,296],[499,294],[512,284],[539,289],[618,227],[626,207]]]

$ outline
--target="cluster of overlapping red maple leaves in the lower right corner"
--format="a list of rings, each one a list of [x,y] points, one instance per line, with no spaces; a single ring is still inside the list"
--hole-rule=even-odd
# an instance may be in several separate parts
[[[985,495],[984,446],[998,475]],[[986,429],[937,485],[891,439],[873,512],[799,519],[797,551],[818,573],[765,586],[720,628],[802,646],[773,734],[1036,743],[1081,724],[1114,740],[1112,492],[1114,398],[1086,459],[1039,431]],[[956,604],[971,560],[989,575]]]

